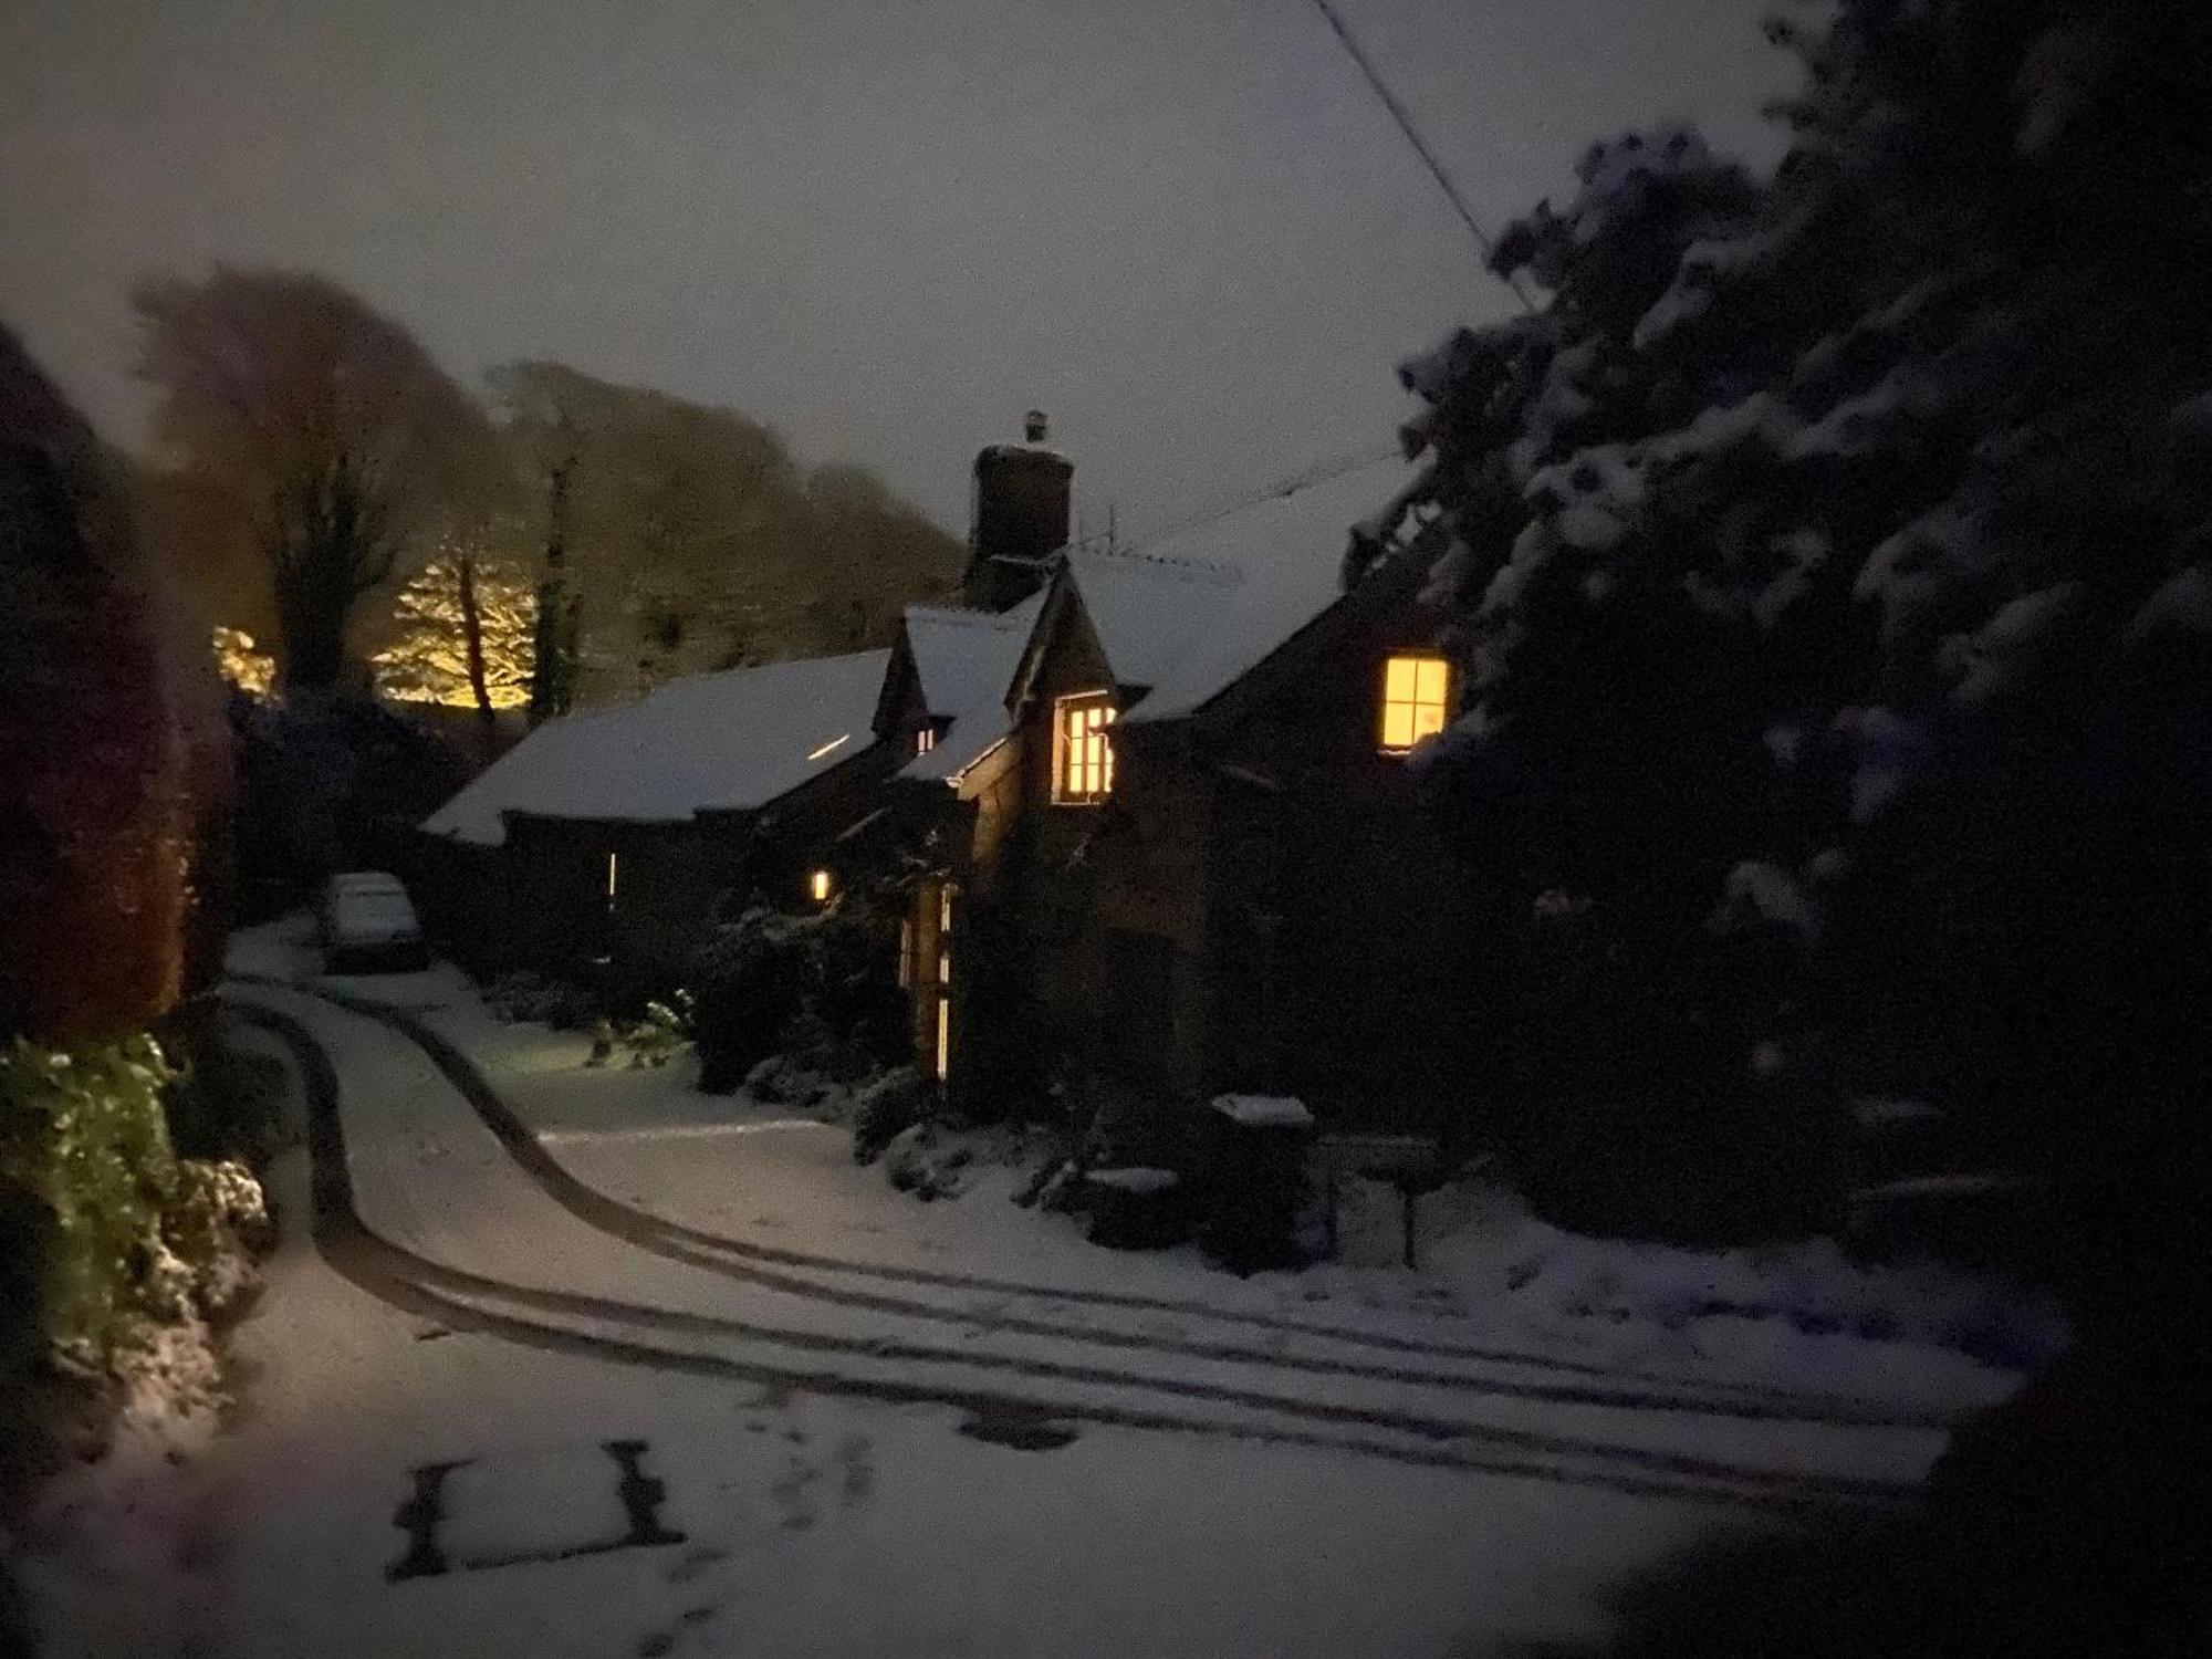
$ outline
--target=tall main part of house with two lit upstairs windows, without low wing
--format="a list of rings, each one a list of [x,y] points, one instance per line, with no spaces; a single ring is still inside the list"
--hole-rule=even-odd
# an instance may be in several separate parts
[[[969,593],[1006,608],[909,613],[883,721],[927,872],[900,929],[916,1060],[953,1099],[1108,1079],[1444,1117],[1478,918],[1405,765],[1458,695],[1418,604],[1436,546],[1374,513],[1405,471],[1135,553],[1006,557],[978,511]],[[1345,591],[1363,518],[1380,557]]]

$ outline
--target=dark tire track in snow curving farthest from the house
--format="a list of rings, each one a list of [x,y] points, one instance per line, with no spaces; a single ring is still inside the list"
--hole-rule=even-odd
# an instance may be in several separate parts
[[[234,1006],[252,1009],[252,1015],[248,1015],[248,1018],[257,1018],[263,1024],[270,1024],[272,1020],[279,1020],[279,1022],[285,1020],[285,1015],[274,1015],[272,1011],[261,1009],[259,1004],[237,1004],[234,1002]],[[290,1022],[290,1024],[296,1024],[296,1022]],[[276,1029],[279,1035],[283,1035],[281,1026],[272,1024],[270,1029]],[[314,1044],[312,1035],[307,1035],[303,1026],[299,1029],[299,1033],[310,1044]],[[294,1037],[288,1037],[288,1042],[292,1042],[292,1040]],[[327,1119],[327,1137],[316,1148],[316,1177],[319,1177],[319,1183],[323,1183],[323,1181],[341,1181],[343,1183],[343,1203],[336,1197],[338,1190],[332,1188],[332,1197],[330,1197],[327,1206],[319,1197],[319,1214],[327,1208],[332,1214],[347,1217],[349,1225],[347,1225],[347,1243],[345,1243],[345,1248],[354,1248],[352,1241],[354,1241],[356,1234],[358,1237],[367,1237],[367,1239],[376,1239],[376,1237],[369,1234],[367,1225],[361,1223],[358,1214],[352,1208],[352,1186],[349,1186],[349,1175],[347,1175],[345,1161],[343,1161],[343,1124],[341,1124],[341,1119],[336,1115],[336,1073],[330,1066],[327,1055],[323,1055],[321,1046],[314,1046],[314,1053],[316,1053],[316,1062],[319,1062],[319,1073],[316,1075],[321,1079],[321,1086],[327,1088],[327,1099],[330,1099],[327,1108],[319,1115],[321,1119]],[[520,1126],[520,1121],[513,1121],[511,1115],[509,1115],[509,1121],[513,1126],[513,1133],[518,1133],[522,1137],[522,1141],[529,1144],[529,1152],[542,1166],[551,1166],[551,1159],[540,1148],[535,1148],[535,1141],[531,1141],[529,1130],[524,1126]],[[513,1152],[518,1148],[509,1146],[509,1150]],[[332,1168],[332,1175],[323,1172],[325,1164]],[[557,1166],[551,1166],[551,1168],[557,1168]],[[323,1192],[323,1188],[319,1186],[319,1194],[321,1192]],[[588,1217],[584,1217],[584,1214],[580,1214],[580,1219],[588,1221]],[[604,1232],[604,1228],[602,1228],[602,1232]],[[635,1241],[626,1239],[626,1243],[635,1243]],[[1785,1509],[1823,1509],[1823,1506],[1834,1506],[1834,1504],[1840,1504],[1840,1502],[1860,1502],[1860,1504],[1863,1502],[1896,1502],[1896,1500],[1907,1498],[1911,1493],[1911,1489],[1907,1484],[1898,1484],[1898,1482],[1876,1482],[1876,1480],[1854,1480],[1854,1478],[1843,1478],[1843,1475],[1807,1475],[1807,1473],[1792,1473],[1792,1471],[1776,1471],[1776,1469],[1756,1469],[1756,1467],[1743,1467],[1743,1464],[1732,1464],[1732,1462],[1717,1462],[1717,1460],[1708,1460],[1708,1458],[1697,1458],[1697,1455],[1688,1455],[1688,1453],[1652,1451],[1652,1449],[1646,1449],[1646,1447],[1630,1447],[1630,1444],[1617,1444],[1617,1442],[1606,1442],[1606,1440],[1555,1436],[1555,1433],[1540,1433],[1540,1431],[1528,1431],[1528,1429],[1506,1429],[1506,1427],[1498,1427],[1498,1425],[1480,1425],[1480,1422],[1467,1422],[1467,1420],[1453,1420],[1453,1418],[1429,1418],[1429,1416],[1420,1416],[1420,1413],[1405,1413],[1405,1411],[1389,1411],[1389,1409],[1347,1407],[1347,1405],[1336,1405],[1336,1402],[1325,1402],[1325,1400],[1310,1400],[1310,1398],[1292,1398],[1292,1396],[1265,1394],[1265,1391],[1248,1389],[1248,1387],[1230,1387],[1230,1385],[1217,1385],[1217,1383],[1197,1383],[1197,1380],[1190,1380],[1190,1378],[1159,1378],[1159,1376],[1115,1371],[1115,1369],[1104,1369],[1104,1367],[1093,1367],[1093,1365],[1071,1365],[1071,1363],[1051,1360],[1051,1358],[1022,1358],[1022,1356],[1004,1356],[1004,1354],[975,1354],[975,1352],[960,1352],[960,1349],[927,1347],[927,1345],[920,1345],[920,1343],[898,1343],[898,1340],[880,1340],[880,1338],[878,1340],[856,1340],[856,1338],[843,1338],[843,1336],[823,1334],[823,1332],[792,1332],[792,1329],[765,1327],[765,1325],[757,1325],[757,1323],[748,1323],[748,1321],[721,1318],[721,1316],[712,1316],[712,1314],[695,1314],[695,1312],[684,1312],[684,1310],[672,1310],[672,1307],[655,1307],[655,1305],[624,1303],[624,1301],[611,1301],[611,1298],[599,1298],[599,1296],[582,1296],[582,1294],[575,1294],[575,1292],[549,1292],[549,1290],[522,1287],[522,1285],[513,1285],[513,1283],[507,1283],[507,1281],[487,1279],[487,1276],[480,1276],[480,1274],[467,1274],[467,1272],[460,1272],[460,1270],[453,1270],[453,1267],[445,1267],[440,1263],[429,1263],[427,1259],[414,1256],[411,1252],[405,1252],[398,1245],[392,1245],[389,1241],[383,1241],[383,1239],[376,1239],[376,1245],[380,1245],[380,1250],[385,1250],[385,1252],[398,1252],[398,1259],[403,1259],[411,1267],[427,1270],[427,1274],[425,1272],[416,1272],[416,1276],[414,1276],[414,1281],[411,1281],[409,1287],[418,1296],[425,1296],[425,1294],[431,1296],[434,1303],[436,1303],[438,1314],[445,1316],[445,1318],[451,1318],[451,1310],[456,1307],[456,1303],[451,1303],[445,1296],[438,1296],[431,1290],[431,1283],[442,1285],[445,1290],[453,1290],[458,1294],[467,1294],[467,1296],[493,1296],[493,1298],[518,1303],[518,1305],[524,1305],[524,1307],[531,1307],[531,1310],[538,1310],[538,1312],[546,1312],[546,1314],[560,1314],[560,1316],[568,1316],[568,1318],[606,1321],[606,1323],[617,1323],[617,1325],[624,1325],[624,1327],[639,1327],[641,1325],[641,1327],[664,1329],[664,1332],[672,1332],[672,1334],[692,1334],[692,1336],[703,1336],[703,1338],[723,1338],[723,1340],[728,1340],[728,1338],[741,1338],[741,1340],[752,1340],[752,1343],[770,1343],[770,1345],[779,1345],[779,1347],[796,1347],[801,1352],[814,1352],[814,1354],[841,1354],[841,1356],[849,1356],[849,1358],[860,1358],[865,1363],[905,1363],[905,1365],[922,1365],[922,1367],[953,1367],[953,1369],[969,1369],[969,1371],[1011,1374],[1011,1376],[1018,1376],[1018,1378],[1024,1378],[1024,1380],[1040,1380],[1040,1383],[1097,1387],[1097,1389],[1108,1389],[1108,1391],[1166,1394],[1170,1398],[1181,1398],[1181,1400],[1190,1400],[1190,1402],[1230,1405],[1230,1407],[1237,1407],[1237,1409],[1243,1409],[1243,1411],[1256,1411],[1256,1413],[1276,1416],[1276,1418],[1292,1416],[1292,1418],[1307,1418],[1307,1420],[1318,1420],[1318,1422],[1327,1422],[1327,1425],[1340,1425],[1340,1427],[1349,1427],[1349,1429],[1380,1429],[1380,1431],[1389,1431],[1389,1433],[1402,1433],[1402,1436],[1409,1436],[1411,1440],[1427,1442],[1427,1447],[1442,1447],[1442,1444],[1449,1444],[1449,1442],[1484,1442],[1484,1444],[1491,1444],[1491,1447],[1511,1449],[1515,1453],[1533,1453],[1533,1455],[1542,1455],[1542,1458],[1553,1460],[1553,1462],[1531,1462],[1528,1458],[1515,1458],[1515,1460],[1469,1458],[1464,1453],[1431,1453],[1431,1451],[1427,1451],[1422,1447],[1411,1449],[1411,1451],[1418,1453],[1418,1455],[1413,1455],[1416,1462],[1438,1462],[1440,1467],[1471,1467],[1471,1469],[1486,1469],[1486,1471],[1493,1471],[1493,1473],[1528,1473],[1528,1475],[1537,1475],[1542,1471],[1548,1471],[1553,1478],[1564,1478],[1564,1480],[1597,1478],[1601,1484],[1615,1484],[1615,1486],[1621,1484],[1624,1480],[1628,1480],[1628,1482],[1644,1482],[1641,1489],[1646,1489],[1646,1491],[1668,1491],[1668,1493],[1679,1493],[1679,1495],[1708,1493],[1708,1495],[1717,1495],[1723,1502],[1736,1500],[1736,1498],[1747,1498],[1750,1502],[1759,1502],[1759,1504],[1767,1504],[1767,1506],[1785,1506]],[[681,1245],[670,1245],[666,1241],[646,1241],[646,1243],[641,1243],[641,1248],[646,1248],[653,1254],[659,1254],[659,1256],[666,1256],[666,1259],[672,1259],[672,1261],[679,1261],[679,1263],[686,1263],[686,1265],[701,1265],[701,1267],[717,1270],[717,1272],[730,1272],[726,1263],[706,1261],[697,1252],[684,1250]],[[429,1283],[425,1283],[425,1281],[429,1281]],[[482,1307],[476,1307],[471,1312],[473,1312],[476,1318],[482,1318],[487,1314],[487,1310],[482,1310]],[[885,1310],[885,1312],[900,1312],[902,1314],[907,1310],[894,1305],[891,1310]],[[971,1321],[962,1321],[962,1323],[971,1323]],[[573,1340],[595,1340],[595,1343],[608,1340],[608,1338],[595,1338],[595,1336],[577,1334],[577,1332],[564,1332],[564,1336],[568,1336]],[[677,1365],[688,1365],[692,1369],[697,1369],[701,1365],[706,1365],[710,1369],[714,1365],[737,1365],[732,1360],[726,1360],[723,1356],[670,1354],[668,1349],[641,1349],[635,1343],[617,1343],[617,1349],[624,1349],[622,1354],[617,1354],[617,1358],[628,1358],[633,1352],[641,1352],[641,1354],[659,1356],[661,1360],[672,1360]],[[1241,1433],[1245,1438],[1281,1438],[1283,1436],[1283,1431],[1279,1427],[1267,1427],[1267,1425],[1221,1425],[1219,1420],[1192,1420],[1192,1418],[1177,1418],[1172,1413],[1146,1413],[1146,1411],[1130,1413],[1124,1407],[1110,1407],[1110,1405],[1102,1407],[1099,1402],[1071,1402],[1071,1400],[1064,1400],[1064,1398],[1029,1400],[1029,1398],[1013,1398],[1013,1396],[998,1396],[998,1394],[980,1394],[975,1389],[949,1387],[949,1385],[936,1385],[936,1383],[929,1383],[929,1385],[922,1385],[922,1383],[896,1383],[894,1385],[894,1383],[880,1383],[878,1380],[878,1383],[865,1383],[863,1385],[860,1380],[849,1378],[849,1376],[841,1376],[841,1374],[821,1374],[821,1371],[801,1374],[801,1371],[772,1369],[772,1367],[759,1367],[759,1365],[741,1367],[739,1374],[743,1374],[743,1376],[748,1376],[752,1380],[783,1380],[783,1383],[792,1383],[792,1385],[812,1387],[812,1389],[818,1389],[818,1391],[841,1391],[841,1389],[843,1391],[852,1391],[852,1387],[858,1385],[858,1387],[863,1387],[863,1391],[872,1391],[878,1398],[900,1398],[900,1400],[933,1398],[933,1400],[945,1400],[945,1402],[953,1402],[953,1405],[967,1405],[969,1409],[975,1409],[975,1411],[982,1411],[982,1413],[989,1413],[989,1411],[1000,1411],[1000,1413],[1015,1411],[1015,1413],[1026,1413],[1031,1418],[1035,1418],[1035,1416],[1091,1418],[1091,1420],[1102,1420],[1102,1422],[1124,1422],[1128,1427],[1177,1427],[1177,1429],[1192,1429],[1192,1431],[1208,1431],[1208,1433]],[[1290,1442],[1292,1444],[1349,1444],[1349,1442],[1343,1442],[1343,1440],[1338,1440],[1334,1436],[1312,1436],[1312,1433],[1294,1433],[1290,1438]],[[1358,1444],[1354,1449],[1369,1449],[1371,1451],[1374,1442],[1363,1442],[1363,1444]],[[1402,1455],[1407,1451],[1409,1451],[1407,1447],[1396,1447],[1398,1455]],[[1566,1469],[1557,1460],[1568,1460],[1568,1462],[1584,1462],[1584,1460],[1588,1460],[1588,1462],[1599,1464],[1601,1469],[1599,1471]],[[1624,1471],[1630,1471],[1630,1469],[1639,1471],[1639,1473],[1635,1473],[1635,1475],[1624,1473]],[[1690,1482],[1690,1484],[1681,1484],[1681,1482]],[[1697,1484],[1697,1482],[1717,1482],[1717,1484],[1708,1486],[1708,1484]]]

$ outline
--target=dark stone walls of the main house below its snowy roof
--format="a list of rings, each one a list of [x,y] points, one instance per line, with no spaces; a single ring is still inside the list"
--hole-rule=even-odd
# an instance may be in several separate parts
[[[1407,763],[1378,752],[1383,661],[1431,628],[1411,584],[1374,591],[1221,710],[1117,723],[1115,792],[1075,807],[1051,801],[1053,703],[1108,677],[1082,613],[1062,615],[1013,737],[962,792],[898,785],[909,845],[956,883],[956,1104],[1033,1110],[1053,1077],[1095,1075],[1294,1093],[1340,1124],[1462,1121],[1478,907]],[[918,978],[933,905],[911,918]],[[929,1068],[933,991],[916,989]]]

